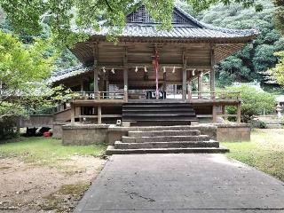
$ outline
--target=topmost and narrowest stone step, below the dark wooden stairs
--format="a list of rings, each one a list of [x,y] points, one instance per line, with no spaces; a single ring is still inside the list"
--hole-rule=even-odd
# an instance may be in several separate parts
[[[129,137],[154,137],[154,136],[198,136],[200,130],[150,130],[129,131]]]

